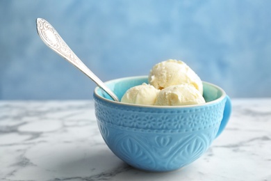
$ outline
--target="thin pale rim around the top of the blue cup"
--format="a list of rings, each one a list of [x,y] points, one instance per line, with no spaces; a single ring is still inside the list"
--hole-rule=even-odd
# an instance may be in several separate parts
[[[112,81],[122,81],[125,79],[146,79],[148,76],[147,75],[142,75],[142,76],[132,76],[132,77],[121,77],[121,78],[117,78],[117,79],[111,79],[109,81],[105,81],[104,84],[108,84]],[[181,106],[156,106],[156,105],[145,105],[145,104],[131,104],[131,103],[126,103],[126,102],[117,102],[115,100],[108,100],[105,97],[102,97],[101,95],[99,95],[97,93],[98,89],[100,88],[99,86],[97,86],[94,90],[94,97],[96,97],[97,99],[100,100],[104,100],[105,102],[108,102],[109,104],[115,104],[115,105],[121,105],[121,106],[126,106],[126,107],[144,107],[144,108],[152,108],[152,109],[176,109],[176,108],[190,108],[190,107],[204,107],[206,105],[210,105],[210,104],[215,104],[217,102],[220,102],[222,100],[224,100],[224,98],[227,96],[226,92],[220,88],[220,86],[217,86],[215,84],[212,84],[210,82],[207,81],[202,81],[204,84],[208,84],[209,86],[213,86],[215,88],[217,88],[218,90],[221,91],[222,95],[217,98],[216,100],[212,100],[210,102],[206,102],[203,104],[192,104],[192,105],[181,105]]]

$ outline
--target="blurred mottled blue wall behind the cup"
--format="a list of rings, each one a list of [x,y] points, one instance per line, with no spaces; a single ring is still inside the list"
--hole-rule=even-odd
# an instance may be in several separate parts
[[[185,61],[231,97],[271,97],[271,1],[0,1],[0,99],[91,99],[36,33],[47,19],[103,81]]]

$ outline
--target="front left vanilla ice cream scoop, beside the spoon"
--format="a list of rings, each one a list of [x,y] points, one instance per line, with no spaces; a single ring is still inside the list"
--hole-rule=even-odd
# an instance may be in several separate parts
[[[121,102],[154,105],[159,92],[160,90],[154,88],[154,86],[143,83],[140,86],[129,88],[123,95]]]

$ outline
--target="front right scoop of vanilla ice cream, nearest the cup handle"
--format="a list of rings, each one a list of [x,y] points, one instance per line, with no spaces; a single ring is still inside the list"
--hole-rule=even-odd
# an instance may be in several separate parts
[[[157,106],[183,106],[205,103],[202,93],[191,84],[179,84],[163,88],[157,96]]]

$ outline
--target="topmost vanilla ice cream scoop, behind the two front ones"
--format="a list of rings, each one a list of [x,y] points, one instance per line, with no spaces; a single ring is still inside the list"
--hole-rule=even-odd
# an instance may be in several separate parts
[[[167,60],[157,63],[149,72],[149,84],[158,89],[179,84],[191,84],[203,93],[202,80],[183,61]]]

